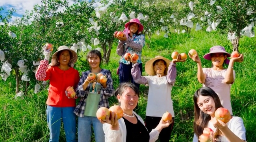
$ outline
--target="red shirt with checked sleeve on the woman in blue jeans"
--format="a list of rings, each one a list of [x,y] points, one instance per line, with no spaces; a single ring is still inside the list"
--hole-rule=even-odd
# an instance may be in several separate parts
[[[54,107],[75,107],[76,100],[65,94],[67,87],[76,89],[80,76],[76,69],[70,67],[63,71],[58,66],[48,67],[47,60],[41,60],[35,74],[37,80],[50,80],[46,104]]]

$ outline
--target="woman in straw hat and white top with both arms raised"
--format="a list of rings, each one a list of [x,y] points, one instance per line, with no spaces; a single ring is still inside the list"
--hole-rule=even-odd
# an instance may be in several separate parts
[[[163,113],[166,111],[169,111],[173,116],[173,123],[169,127],[164,128],[159,135],[161,142],[169,142],[174,124],[171,89],[176,78],[176,62],[185,61],[186,59],[180,60],[180,55],[172,61],[162,56],[156,56],[145,65],[145,71],[149,76],[141,76],[141,71],[136,62],[134,62],[131,71],[136,83],[149,86],[145,120],[148,131],[151,131],[158,125]]]

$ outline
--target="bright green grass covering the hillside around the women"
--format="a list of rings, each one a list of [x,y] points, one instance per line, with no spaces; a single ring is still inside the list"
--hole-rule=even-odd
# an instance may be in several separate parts
[[[146,41],[149,43],[149,40]],[[187,34],[171,33],[169,38],[153,36],[150,48],[148,44],[143,48],[143,75],[146,75],[145,63],[154,56],[161,55],[171,59],[171,53],[188,53],[190,49],[196,49],[204,67],[211,67],[211,62],[204,60],[202,56],[209,52],[210,47],[221,45],[231,53],[232,46],[226,35],[217,33],[205,33],[192,30]],[[231,89],[231,101],[235,116],[243,118],[248,142],[256,140],[256,38],[241,38],[239,52],[245,56],[243,63],[235,63],[236,80]],[[115,88],[119,84],[116,69],[119,66],[119,56],[113,46],[111,59],[104,68],[111,70]],[[78,63],[80,73],[82,69],[88,69]],[[173,107],[175,112],[175,124],[171,135],[171,142],[191,142],[193,139],[193,93],[202,86],[197,81],[197,65],[190,58],[184,63],[178,63],[177,78],[172,90]],[[137,112],[145,118],[148,87],[141,85],[143,95],[139,98]],[[14,99],[15,78],[9,77],[6,82],[0,81],[0,142],[46,142],[49,138],[49,130],[46,123],[46,99],[47,90],[34,94],[33,87],[24,99]],[[109,98],[111,105],[117,103],[114,97]],[[60,141],[65,141],[63,127],[61,127]],[[93,140],[94,141],[94,140]]]

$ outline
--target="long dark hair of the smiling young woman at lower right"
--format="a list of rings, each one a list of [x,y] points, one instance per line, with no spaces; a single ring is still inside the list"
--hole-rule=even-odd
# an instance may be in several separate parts
[[[199,96],[211,96],[215,102],[215,110],[219,107],[223,107],[221,105],[221,101],[219,100],[219,96],[210,87],[201,87],[195,92],[193,97],[195,110],[194,132],[197,135],[197,137],[202,135],[204,128],[208,126],[208,123],[211,120],[211,116],[201,111],[201,109],[198,107],[197,100]],[[214,138],[219,137],[219,135],[221,135],[221,131],[217,129]]]

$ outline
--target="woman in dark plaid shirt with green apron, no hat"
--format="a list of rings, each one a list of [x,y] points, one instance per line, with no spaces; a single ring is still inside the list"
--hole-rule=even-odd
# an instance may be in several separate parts
[[[96,142],[104,142],[104,131],[102,124],[96,117],[96,112],[100,107],[109,108],[108,97],[113,96],[114,93],[113,81],[111,72],[100,68],[102,61],[100,51],[90,51],[87,60],[91,70],[82,73],[76,89],[76,96],[80,97],[74,110],[78,116],[78,142],[91,142],[92,127]],[[89,80],[89,73],[101,73],[108,80],[106,83],[101,83],[98,79]]]

